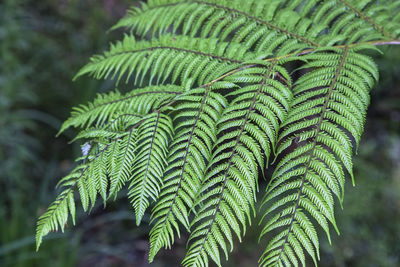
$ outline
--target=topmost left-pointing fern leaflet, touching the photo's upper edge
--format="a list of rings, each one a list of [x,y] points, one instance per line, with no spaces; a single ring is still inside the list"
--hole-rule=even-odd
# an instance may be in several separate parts
[[[149,1],[141,9],[132,8],[113,28],[129,27],[144,36],[149,31],[162,34],[172,26],[173,33],[243,43],[264,55],[319,46],[316,37],[325,28],[314,25],[311,29],[311,21],[295,11],[303,5],[290,2]]]

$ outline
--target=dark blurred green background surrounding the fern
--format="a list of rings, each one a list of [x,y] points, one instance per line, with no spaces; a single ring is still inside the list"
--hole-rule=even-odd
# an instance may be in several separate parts
[[[74,165],[73,131],[55,134],[71,107],[112,89],[109,81],[72,77],[121,33],[106,31],[132,0],[0,1],[0,266],[149,266],[147,233],[121,198],[77,225],[53,233],[35,252],[36,219]],[[332,245],[321,235],[320,266],[400,266],[400,47],[374,54],[380,82],[354,158]],[[123,195],[123,194],[121,194]],[[260,229],[249,229],[226,266],[257,266]],[[179,266],[185,236],[151,266]],[[224,266],[225,266],[224,265]]]

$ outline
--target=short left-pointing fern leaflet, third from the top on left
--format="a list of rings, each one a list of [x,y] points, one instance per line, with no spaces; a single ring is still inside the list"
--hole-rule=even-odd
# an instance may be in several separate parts
[[[99,127],[121,114],[146,114],[182,91],[180,86],[162,85],[135,89],[125,95],[118,90],[98,94],[93,102],[73,108],[71,117],[63,123],[58,135],[69,127]]]

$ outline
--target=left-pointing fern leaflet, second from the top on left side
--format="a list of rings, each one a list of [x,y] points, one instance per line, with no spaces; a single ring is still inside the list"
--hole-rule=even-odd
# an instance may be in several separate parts
[[[122,41],[111,45],[104,55],[91,58],[75,78],[90,74],[96,79],[117,77],[117,83],[126,75],[127,80],[135,75],[134,82],[143,81],[149,74],[149,84],[157,77],[157,84],[168,78],[172,83],[180,79],[201,85],[219,68],[237,65],[243,60],[255,58],[245,47],[238,44],[221,43],[218,39],[199,39],[188,36],[162,35],[159,39],[136,41],[126,35]],[[200,76],[201,74],[201,76]]]

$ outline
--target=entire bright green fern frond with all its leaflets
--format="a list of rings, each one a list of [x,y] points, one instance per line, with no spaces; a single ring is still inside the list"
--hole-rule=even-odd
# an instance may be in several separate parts
[[[228,259],[261,214],[260,239],[269,238],[261,266],[304,266],[307,254],[317,265],[316,226],[329,241],[330,225],[339,232],[334,197],[342,204],[345,173],[354,183],[352,156],[378,79],[366,53],[400,44],[399,11],[399,2],[371,0],[159,0],[131,9],[114,26],[130,33],[76,77],[148,87],[101,94],[64,123],[60,133],[79,128],[74,140],[88,151],[39,218],[37,248],[64,229],[68,212],[74,222],[74,191],[86,211],[129,184],[138,225],[154,203],[150,261],[183,227],[182,264],[221,266],[221,253]]]

